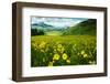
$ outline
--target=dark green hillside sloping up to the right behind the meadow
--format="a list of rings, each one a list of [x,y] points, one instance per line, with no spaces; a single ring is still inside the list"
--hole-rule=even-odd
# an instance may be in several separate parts
[[[97,20],[96,19],[88,19],[86,21],[82,21],[74,27],[68,27],[63,35],[96,35],[97,34]]]

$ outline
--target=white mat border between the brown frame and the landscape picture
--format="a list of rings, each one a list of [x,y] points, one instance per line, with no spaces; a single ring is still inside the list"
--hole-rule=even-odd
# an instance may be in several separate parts
[[[97,65],[31,67],[31,15],[97,19]],[[23,77],[103,72],[103,12],[45,8],[23,8],[22,19]]]

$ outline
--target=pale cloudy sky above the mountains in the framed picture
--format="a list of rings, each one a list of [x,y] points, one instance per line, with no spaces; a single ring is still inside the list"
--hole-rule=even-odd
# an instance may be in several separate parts
[[[51,18],[51,17],[32,17],[31,23],[50,24],[56,28],[73,27],[79,22],[87,20],[86,18]]]

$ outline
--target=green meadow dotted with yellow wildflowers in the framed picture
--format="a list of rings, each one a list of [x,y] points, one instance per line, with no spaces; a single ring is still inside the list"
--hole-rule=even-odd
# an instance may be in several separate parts
[[[31,66],[96,64],[96,43],[94,35],[31,36]]]

